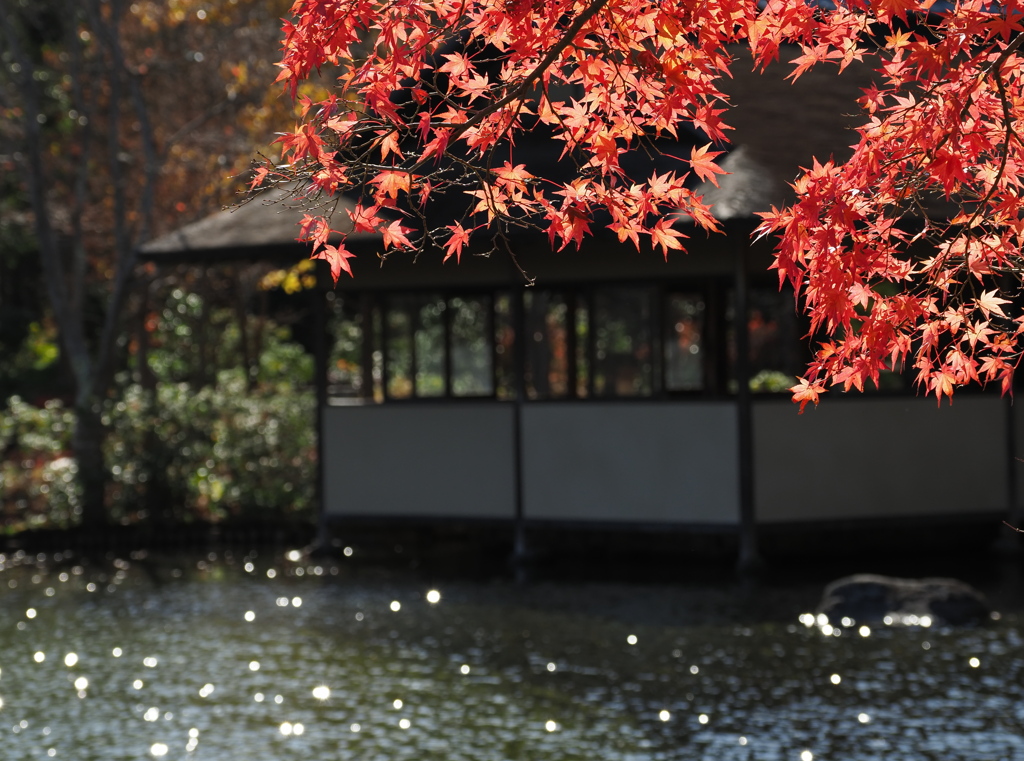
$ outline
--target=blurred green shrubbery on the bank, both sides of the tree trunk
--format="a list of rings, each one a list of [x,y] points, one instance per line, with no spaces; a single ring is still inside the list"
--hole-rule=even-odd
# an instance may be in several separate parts
[[[120,398],[103,413],[114,519],[312,518],[312,358],[287,330],[247,321],[240,326],[230,310],[207,310],[194,293],[168,295],[146,360],[155,382],[144,387],[124,374]],[[199,330],[214,330],[215,340],[197,346]],[[245,340],[255,358],[250,368],[242,367]],[[0,408],[0,521],[7,531],[74,523],[74,412],[56,400],[34,407],[14,396]]]

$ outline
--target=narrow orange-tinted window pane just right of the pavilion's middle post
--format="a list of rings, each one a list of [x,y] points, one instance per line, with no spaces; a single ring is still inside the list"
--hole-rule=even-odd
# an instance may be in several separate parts
[[[568,305],[552,291],[523,294],[526,329],[526,396],[531,399],[568,395]]]

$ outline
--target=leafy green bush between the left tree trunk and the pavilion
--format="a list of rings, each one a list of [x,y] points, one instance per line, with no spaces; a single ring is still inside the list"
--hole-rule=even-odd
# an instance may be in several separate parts
[[[310,517],[315,398],[289,384],[247,390],[241,369],[212,386],[129,386],[109,416],[112,506],[122,520]]]

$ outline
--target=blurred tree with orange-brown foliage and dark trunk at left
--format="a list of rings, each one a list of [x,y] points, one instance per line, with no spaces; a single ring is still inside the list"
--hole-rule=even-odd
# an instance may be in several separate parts
[[[0,0],[0,165],[9,198],[25,199],[67,368],[87,523],[104,517],[101,412],[129,346],[135,248],[230,200],[210,178],[247,167],[266,123],[290,111],[265,86],[281,10]]]

